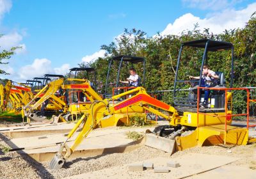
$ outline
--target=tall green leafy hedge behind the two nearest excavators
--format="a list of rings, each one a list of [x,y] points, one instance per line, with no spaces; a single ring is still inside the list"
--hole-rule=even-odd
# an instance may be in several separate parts
[[[211,29],[200,31],[198,24],[195,24],[191,31],[182,31],[180,35],[147,36],[147,33],[138,29],[125,29],[124,33],[109,45],[102,45],[101,49],[106,50],[104,58],[97,59],[92,66],[97,70],[97,79],[106,82],[108,73],[108,62],[113,56],[142,56],[146,59],[146,86],[147,91],[157,91],[163,89],[173,89],[175,70],[177,68],[177,58],[180,44],[191,40],[208,38],[211,40],[221,40],[231,42],[234,45],[234,87],[255,86],[256,85],[256,12],[241,29],[226,29],[223,33],[213,34]],[[202,49],[192,49],[186,47],[182,51],[182,61],[179,68],[180,79],[188,79],[188,75],[199,75]],[[230,82],[231,52],[209,52],[207,63],[212,70],[224,72],[227,87]],[[136,66],[138,69],[141,66]],[[127,72],[128,65],[124,64],[124,71]],[[118,65],[113,65],[116,72]],[[110,81],[114,81],[116,76],[111,76]],[[255,93],[256,94],[256,93]],[[256,97],[255,97],[256,98]],[[162,98],[168,103],[172,103],[172,93]],[[233,100],[234,112],[241,113],[246,106],[246,98],[243,92],[237,92]]]

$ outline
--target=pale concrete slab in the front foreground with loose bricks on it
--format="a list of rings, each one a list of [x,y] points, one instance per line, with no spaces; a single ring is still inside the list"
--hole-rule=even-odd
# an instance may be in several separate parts
[[[171,160],[166,157],[157,157],[154,159],[148,159],[141,162],[153,162],[154,167],[164,167],[166,163]],[[175,160],[179,161],[180,167],[172,167],[170,173],[154,173],[154,170],[145,170],[134,172],[127,172],[127,165],[111,167],[108,169],[102,169],[99,171],[93,171],[90,173],[83,173],[81,175],[70,176],[67,178],[185,178],[194,176],[198,173],[210,171],[218,167],[230,164],[236,161],[236,158],[225,157],[220,155],[206,155],[200,153],[189,153],[177,157]],[[218,178],[218,177],[217,177]]]

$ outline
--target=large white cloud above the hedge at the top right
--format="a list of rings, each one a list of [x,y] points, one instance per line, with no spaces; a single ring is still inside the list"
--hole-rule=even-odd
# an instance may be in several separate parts
[[[209,28],[212,33],[222,33],[225,29],[242,28],[255,10],[256,3],[252,3],[243,10],[223,10],[205,19],[186,13],[176,19],[173,24],[168,24],[161,35],[179,35],[184,30],[193,30],[196,23],[199,25],[198,29]]]

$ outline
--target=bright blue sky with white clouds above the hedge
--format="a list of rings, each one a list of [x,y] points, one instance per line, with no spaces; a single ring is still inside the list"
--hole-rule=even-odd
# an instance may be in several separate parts
[[[25,81],[65,74],[102,56],[100,45],[111,43],[124,28],[168,35],[198,22],[200,28],[220,33],[243,27],[255,10],[256,1],[249,0],[0,0],[0,51],[23,47],[9,65],[0,66],[12,75],[0,77]]]

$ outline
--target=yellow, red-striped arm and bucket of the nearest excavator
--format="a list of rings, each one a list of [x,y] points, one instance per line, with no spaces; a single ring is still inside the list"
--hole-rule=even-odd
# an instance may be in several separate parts
[[[136,93],[136,94],[131,98],[128,98],[127,100],[124,100],[118,104],[111,105],[111,106],[109,105],[110,101],[117,100],[118,98],[124,97],[132,93]],[[83,141],[83,139],[87,137],[88,134],[90,134],[93,128],[97,128],[101,120],[108,119],[109,116],[115,114],[115,112],[120,109],[129,107],[131,105],[138,105],[138,104],[141,107],[144,107],[145,109],[151,111],[152,113],[156,113],[157,115],[164,116],[164,118],[166,118],[166,120],[169,120],[170,122],[173,120],[173,118],[179,118],[179,114],[177,113],[174,107],[168,104],[165,104],[164,102],[161,102],[155,98],[150,97],[150,95],[147,94],[145,89],[141,87],[132,89],[125,93],[121,93],[120,95],[116,95],[111,99],[95,100],[90,105],[90,109],[84,112],[83,116],[79,119],[76,126],[68,134],[65,142],[61,144],[59,152],[51,160],[49,167],[51,169],[59,169],[64,164],[65,160],[67,160],[68,157],[72,155],[74,150],[76,150],[77,146],[81,143],[81,141]],[[147,105],[153,105],[155,107],[163,109],[164,111],[167,111],[168,113],[170,113],[171,116],[166,116],[165,114],[153,109],[152,107],[146,107]],[[74,136],[77,130],[81,127],[83,127],[83,129],[79,132],[78,136],[74,140],[74,143],[72,143],[71,146],[68,146],[67,144],[68,140],[72,136]],[[65,148],[65,152],[63,152],[64,148]]]

